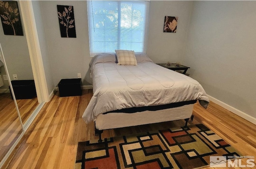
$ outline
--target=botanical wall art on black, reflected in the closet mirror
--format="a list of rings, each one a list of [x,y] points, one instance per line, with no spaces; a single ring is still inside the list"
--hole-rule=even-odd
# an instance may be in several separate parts
[[[17,1],[0,0],[0,16],[5,35],[23,35]]]

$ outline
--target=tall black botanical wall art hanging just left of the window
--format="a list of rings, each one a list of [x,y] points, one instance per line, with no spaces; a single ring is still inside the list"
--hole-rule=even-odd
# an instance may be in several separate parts
[[[57,5],[61,37],[76,37],[73,6]]]

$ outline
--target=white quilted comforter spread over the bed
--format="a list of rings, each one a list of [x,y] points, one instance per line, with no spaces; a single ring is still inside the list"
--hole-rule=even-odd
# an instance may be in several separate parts
[[[123,108],[189,100],[200,100],[207,107],[209,99],[196,80],[156,65],[143,54],[136,54],[137,66],[117,65],[114,55],[106,55],[90,63],[94,94],[82,116],[86,123]]]

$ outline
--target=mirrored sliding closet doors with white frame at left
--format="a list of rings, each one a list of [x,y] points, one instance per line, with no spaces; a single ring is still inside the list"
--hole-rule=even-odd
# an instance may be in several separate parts
[[[29,10],[24,1],[0,0],[0,168],[44,105]]]

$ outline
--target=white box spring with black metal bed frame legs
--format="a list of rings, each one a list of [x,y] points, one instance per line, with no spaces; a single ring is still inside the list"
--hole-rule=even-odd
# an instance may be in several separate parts
[[[156,108],[156,106],[148,106],[100,114],[95,120],[95,136],[99,137],[98,142],[102,142],[101,134],[104,130],[182,119],[186,122],[184,128],[187,128],[188,120],[190,119],[192,121],[194,117],[192,115],[194,102],[196,102],[196,100],[190,102],[192,104],[172,108],[168,108],[170,105],[163,105],[165,108],[163,108],[163,106],[159,106],[158,108]],[[147,110],[145,110],[145,108]],[[133,111],[131,109],[133,109]]]

